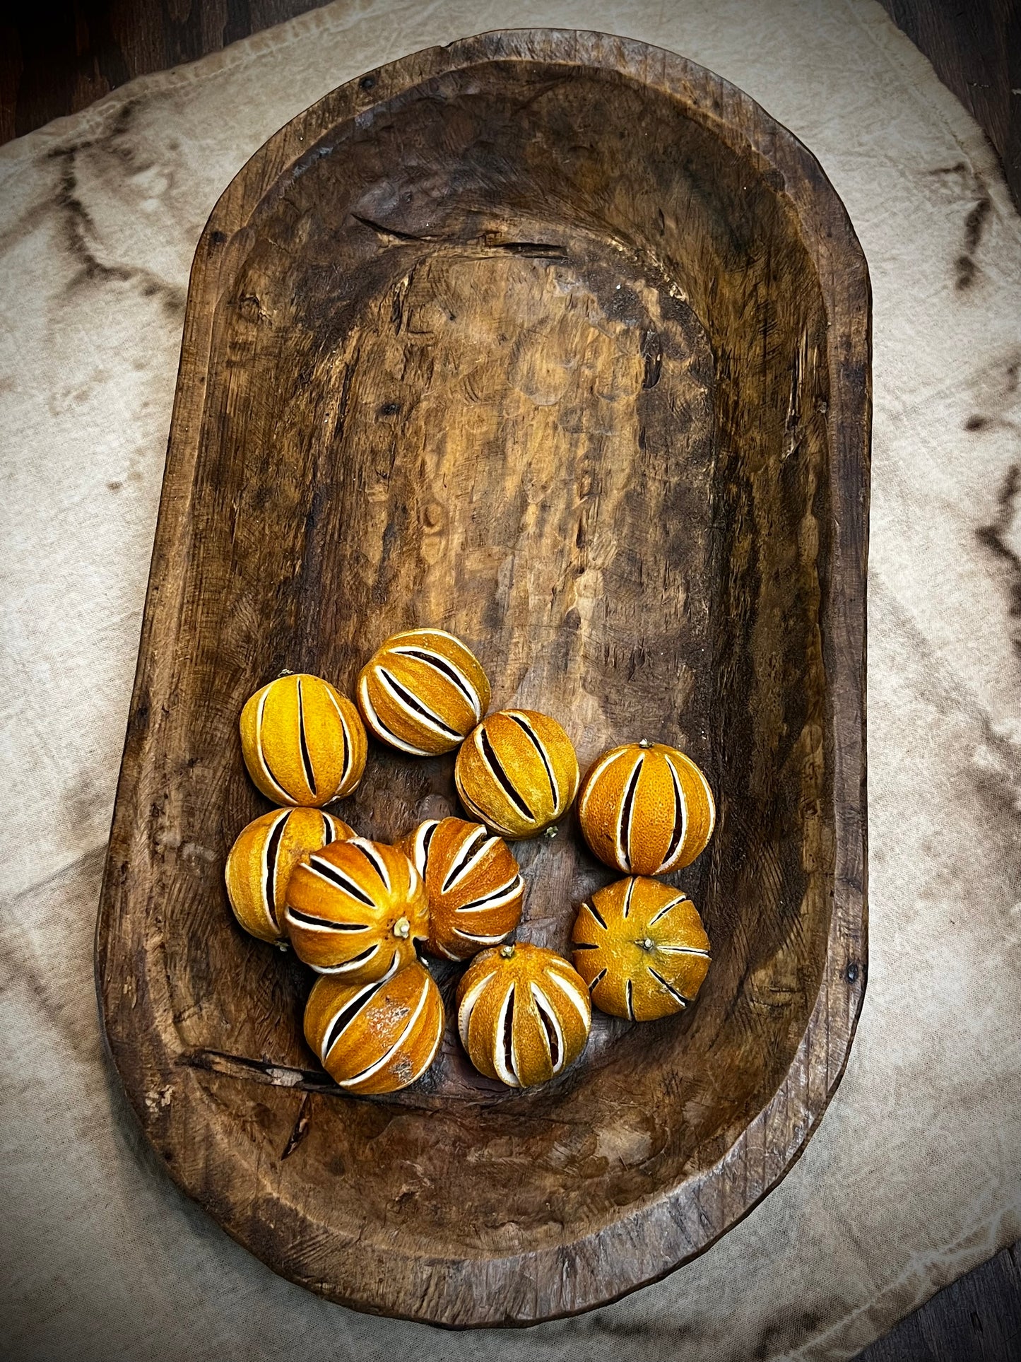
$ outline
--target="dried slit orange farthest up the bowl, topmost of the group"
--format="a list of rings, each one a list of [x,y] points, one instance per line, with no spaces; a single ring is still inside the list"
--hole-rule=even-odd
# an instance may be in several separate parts
[[[421,757],[456,748],[489,708],[482,663],[445,629],[387,639],[362,667],[357,693],[376,737]]]

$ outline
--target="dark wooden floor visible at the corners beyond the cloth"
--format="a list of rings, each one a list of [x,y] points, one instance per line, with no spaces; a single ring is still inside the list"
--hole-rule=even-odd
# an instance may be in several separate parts
[[[881,0],[986,129],[1021,206],[1021,3]],[[0,18],[0,142],[133,76],[216,52],[316,0],[8,0]],[[858,1362],[1018,1362],[1021,1245],[1005,1249]]]

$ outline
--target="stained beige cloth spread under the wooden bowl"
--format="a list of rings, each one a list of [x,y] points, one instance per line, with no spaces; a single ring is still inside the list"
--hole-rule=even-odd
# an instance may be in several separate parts
[[[91,945],[188,270],[280,124],[491,27],[603,29],[742,86],[818,155],[875,293],[871,978],[781,1186],[576,1320],[452,1335],[274,1276],[155,1165]],[[18,1359],[843,1358],[1021,1235],[1021,223],[871,0],[344,0],[0,151],[3,1283]]]

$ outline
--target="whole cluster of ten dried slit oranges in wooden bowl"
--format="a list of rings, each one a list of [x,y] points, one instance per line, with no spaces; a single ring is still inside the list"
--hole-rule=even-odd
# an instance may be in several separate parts
[[[320,677],[285,674],[248,700],[245,764],[279,808],[244,828],[226,865],[241,926],[290,943],[319,972],[305,1036],[340,1087],[395,1092],[436,1058],[444,1005],[419,944],[471,960],[457,986],[457,1031],[475,1068],[509,1087],[573,1064],[592,1004],[644,1022],[694,998],[709,938],[686,895],[653,878],[690,865],[712,835],[712,793],[693,761],[643,741],[603,753],[585,776],[581,831],[626,878],[581,904],[572,967],[509,940],[524,881],[504,840],[551,827],[579,794],[564,729],[532,710],[487,715],[482,666],[442,629],[388,639],[362,669],[357,699]],[[457,748],[457,794],[476,821],[429,820],[393,847],[324,812],[362,778],[366,726],[412,756]]]

